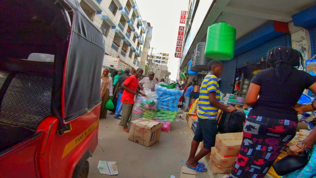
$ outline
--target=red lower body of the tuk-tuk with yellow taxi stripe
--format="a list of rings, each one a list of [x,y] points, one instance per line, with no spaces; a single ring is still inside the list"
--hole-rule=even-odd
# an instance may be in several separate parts
[[[71,178],[83,154],[98,145],[99,117],[100,104],[70,121],[72,129],[63,135],[57,118],[44,119],[33,138],[0,153],[1,177]]]

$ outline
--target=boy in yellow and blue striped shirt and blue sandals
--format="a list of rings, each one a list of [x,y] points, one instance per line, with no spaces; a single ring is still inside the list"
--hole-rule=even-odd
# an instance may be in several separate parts
[[[218,109],[226,112],[236,110],[232,105],[222,105],[221,95],[217,77],[222,75],[223,64],[219,60],[212,60],[208,64],[209,74],[207,74],[200,88],[197,110],[197,129],[191,143],[189,159],[186,161],[187,167],[198,172],[206,172],[205,164],[198,162],[205,155],[210,153],[211,147],[215,145],[217,134],[216,116]],[[195,156],[198,145],[204,141],[204,147]]]

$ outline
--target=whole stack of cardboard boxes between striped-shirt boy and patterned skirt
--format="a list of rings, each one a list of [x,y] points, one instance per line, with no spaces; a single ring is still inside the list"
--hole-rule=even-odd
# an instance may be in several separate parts
[[[217,134],[215,147],[211,148],[209,165],[213,173],[228,174],[233,170],[242,141],[242,132]]]

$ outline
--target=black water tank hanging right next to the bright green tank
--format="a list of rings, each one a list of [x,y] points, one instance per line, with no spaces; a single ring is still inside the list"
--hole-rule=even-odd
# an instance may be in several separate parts
[[[205,57],[205,42],[197,44],[195,59],[194,59],[194,68],[196,70],[208,71],[207,65],[212,59]]]

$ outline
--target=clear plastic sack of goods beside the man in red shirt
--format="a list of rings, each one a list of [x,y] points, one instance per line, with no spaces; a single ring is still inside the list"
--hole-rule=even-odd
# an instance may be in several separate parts
[[[157,108],[157,93],[145,88],[146,97],[137,97],[131,113],[131,120],[146,118],[152,120]]]

